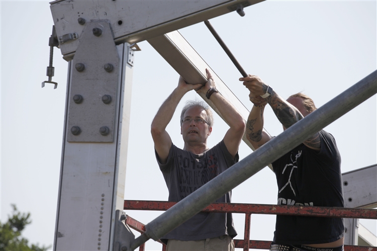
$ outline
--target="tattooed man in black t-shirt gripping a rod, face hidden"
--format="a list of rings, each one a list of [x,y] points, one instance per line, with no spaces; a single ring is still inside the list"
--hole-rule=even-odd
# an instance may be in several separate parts
[[[249,89],[250,111],[246,136],[255,149],[271,140],[263,132],[263,111],[269,104],[283,129],[291,127],[316,109],[303,93],[282,99],[259,77],[240,78]],[[344,207],[340,155],[334,137],[319,131],[272,163],[276,175],[277,204]],[[342,218],[276,215],[270,250],[342,251]]]

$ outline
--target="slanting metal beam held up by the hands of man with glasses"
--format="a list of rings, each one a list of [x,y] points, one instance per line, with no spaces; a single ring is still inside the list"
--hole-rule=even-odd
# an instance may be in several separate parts
[[[178,31],[173,31],[162,36],[148,39],[147,42],[180,76],[186,80],[187,83],[206,83],[206,68],[208,68],[213,75],[216,88],[240,112],[245,122],[247,121],[250,111]],[[214,106],[214,104],[207,99],[203,93],[200,93],[199,95],[212,107],[212,109],[216,111],[216,113],[222,119],[224,119],[216,106]],[[246,139],[246,132],[244,133],[242,140],[247,146],[249,146],[249,148],[255,151],[255,148]],[[268,167],[272,170],[271,165],[268,165]]]

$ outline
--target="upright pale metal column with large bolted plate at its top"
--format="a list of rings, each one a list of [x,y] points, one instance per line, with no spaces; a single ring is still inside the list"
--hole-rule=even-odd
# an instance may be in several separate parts
[[[113,249],[115,212],[124,202],[132,57],[127,43],[115,45],[109,23],[86,24],[69,64],[55,250]]]

